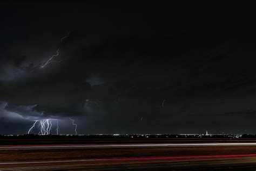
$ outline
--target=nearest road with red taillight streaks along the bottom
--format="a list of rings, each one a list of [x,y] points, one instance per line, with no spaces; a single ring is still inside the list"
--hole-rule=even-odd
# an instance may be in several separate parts
[[[0,162],[1,170],[54,170],[54,169],[185,169],[224,166],[251,166],[256,154],[203,155],[203,156],[154,156],[110,159],[79,159],[55,161]]]

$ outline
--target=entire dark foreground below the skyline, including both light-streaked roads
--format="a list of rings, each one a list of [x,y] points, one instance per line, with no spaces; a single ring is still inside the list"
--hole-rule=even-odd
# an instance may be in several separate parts
[[[0,140],[0,170],[256,169],[255,139],[26,141]]]

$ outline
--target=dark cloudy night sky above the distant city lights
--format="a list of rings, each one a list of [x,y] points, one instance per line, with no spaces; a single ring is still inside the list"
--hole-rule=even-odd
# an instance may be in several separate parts
[[[69,118],[79,134],[256,133],[256,27],[245,13],[146,1],[0,6],[0,134],[43,119],[74,133]]]

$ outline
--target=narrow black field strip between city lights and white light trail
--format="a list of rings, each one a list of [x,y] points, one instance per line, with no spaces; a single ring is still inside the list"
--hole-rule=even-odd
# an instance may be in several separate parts
[[[153,144],[153,143],[256,143],[256,138],[0,138],[2,145],[65,145],[65,144]]]

